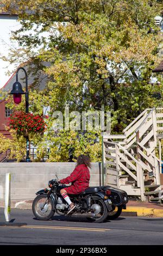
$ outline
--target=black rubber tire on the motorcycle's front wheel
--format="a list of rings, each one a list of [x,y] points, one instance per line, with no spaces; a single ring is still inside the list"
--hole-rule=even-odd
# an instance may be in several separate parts
[[[40,210],[40,212],[41,212],[41,214],[42,214],[42,216],[41,216],[41,214],[39,214],[39,212],[38,212],[38,210],[37,210],[37,203],[38,203],[38,201],[39,200],[41,200],[41,199],[47,199],[47,195],[46,194],[39,194],[39,196],[37,196],[35,199],[34,199],[34,201],[33,201],[33,204],[32,204],[32,211],[33,211],[33,214],[34,214],[34,216],[36,217],[36,219],[37,220],[39,220],[39,221],[48,221],[50,218],[52,218],[53,217],[53,215],[54,215],[54,213],[55,213],[55,210],[53,210],[53,202],[52,202],[52,199],[51,198],[49,198],[48,199],[48,205],[49,206],[51,206],[51,209],[49,210],[49,212],[47,212],[46,211],[46,209],[44,210],[45,212],[45,216],[43,216],[44,215],[44,213],[43,212],[41,212],[41,208],[39,209]],[[44,200],[44,201],[45,201]],[[49,207],[49,206],[45,206],[45,207]],[[43,208],[44,209],[44,208]],[[42,209],[42,210],[43,210]]]

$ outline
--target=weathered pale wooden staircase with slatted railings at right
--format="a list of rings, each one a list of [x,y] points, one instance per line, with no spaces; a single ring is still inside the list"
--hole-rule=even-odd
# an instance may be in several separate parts
[[[143,201],[161,202],[162,138],[163,108],[145,109],[123,130],[123,135],[103,134],[105,185],[120,188]]]

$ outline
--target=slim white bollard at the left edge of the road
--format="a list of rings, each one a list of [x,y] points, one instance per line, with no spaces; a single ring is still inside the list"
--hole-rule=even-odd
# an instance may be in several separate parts
[[[11,189],[11,174],[7,173],[5,175],[5,206],[4,206],[4,215],[5,221],[10,221],[10,189]]]

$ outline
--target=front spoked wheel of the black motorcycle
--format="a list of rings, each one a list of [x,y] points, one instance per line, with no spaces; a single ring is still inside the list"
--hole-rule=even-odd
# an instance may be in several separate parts
[[[45,206],[43,207],[43,205]],[[52,218],[55,212],[53,210],[52,199],[49,198],[47,200],[46,194],[40,194],[34,199],[32,204],[32,210],[34,216],[37,218],[37,220],[40,221],[48,221],[50,218]]]

